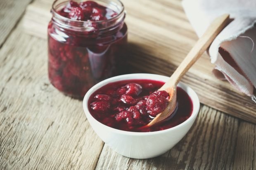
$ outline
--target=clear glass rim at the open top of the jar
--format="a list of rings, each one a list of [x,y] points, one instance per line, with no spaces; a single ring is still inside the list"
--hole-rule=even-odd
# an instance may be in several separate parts
[[[61,20],[65,20],[65,21],[69,21],[69,22],[74,22],[74,23],[80,23],[81,25],[91,25],[91,24],[97,24],[97,23],[104,23],[106,21],[115,21],[117,20],[122,14],[125,14],[125,11],[124,11],[124,6],[123,6],[123,3],[120,1],[120,0],[116,0],[117,2],[120,3],[120,7],[121,7],[121,11],[118,12],[118,14],[112,18],[109,18],[109,19],[106,19],[106,20],[101,20],[101,21],[78,21],[78,20],[73,20],[73,19],[70,19],[70,18],[66,18],[60,14],[58,14],[57,10],[56,10],[56,3],[58,2],[59,0],[55,0],[53,3],[52,3],[52,10],[51,12],[53,13],[53,16],[57,16],[58,19],[61,19]],[[66,2],[69,2],[70,0],[66,0],[64,1],[65,3]],[[102,1],[102,0],[100,0]],[[104,0],[103,0],[104,1]],[[62,3],[64,3],[62,2]],[[62,3],[58,4],[58,5],[61,5]],[[117,11],[115,11],[117,12]]]

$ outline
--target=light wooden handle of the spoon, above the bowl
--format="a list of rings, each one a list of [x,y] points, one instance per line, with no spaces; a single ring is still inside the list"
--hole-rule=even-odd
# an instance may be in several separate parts
[[[211,25],[207,28],[202,37],[199,38],[194,47],[187,54],[185,59],[181,62],[179,67],[175,70],[170,79],[161,87],[161,90],[165,90],[168,87],[175,87],[184,74],[190,69],[190,67],[199,59],[199,57],[206,51],[211,45],[217,35],[225,28],[229,21],[229,14],[223,14],[216,18]]]

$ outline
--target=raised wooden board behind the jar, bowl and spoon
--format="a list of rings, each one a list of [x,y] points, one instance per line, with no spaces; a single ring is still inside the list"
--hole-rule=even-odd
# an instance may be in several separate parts
[[[25,32],[46,39],[51,3],[52,0],[35,0],[28,6],[23,23]],[[198,39],[180,0],[123,3],[132,72],[171,76]],[[256,104],[229,83],[216,79],[211,73],[213,68],[209,56],[204,54],[181,81],[197,92],[201,103],[256,123]]]

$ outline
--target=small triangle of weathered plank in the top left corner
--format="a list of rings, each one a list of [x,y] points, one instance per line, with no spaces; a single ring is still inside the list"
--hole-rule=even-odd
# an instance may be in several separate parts
[[[27,5],[32,0],[1,0],[0,1],[0,47],[13,30]]]

